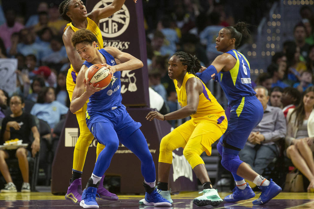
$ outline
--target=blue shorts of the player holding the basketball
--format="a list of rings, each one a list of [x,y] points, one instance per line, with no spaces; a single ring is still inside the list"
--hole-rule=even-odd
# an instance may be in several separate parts
[[[135,122],[126,110],[124,105],[106,112],[86,111],[86,124],[90,132],[95,136],[95,123],[109,123],[116,131],[118,137],[128,137],[134,131],[142,126],[141,123]],[[97,139],[97,138],[96,138]]]

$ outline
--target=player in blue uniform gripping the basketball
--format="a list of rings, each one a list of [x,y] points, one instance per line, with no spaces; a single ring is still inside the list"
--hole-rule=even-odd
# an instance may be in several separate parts
[[[98,142],[105,145],[105,148],[98,155],[93,173],[83,191],[80,206],[84,208],[99,207],[95,200],[97,187],[101,176],[110,165],[113,154],[118,149],[119,142],[141,160],[141,171],[144,176],[143,185],[146,191],[145,205],[171,206],[171,203],[163,198],[155,188],[155,165],[146,139],[139,129],[141,124],[130,117],[126,107],[121,103],[120,71],[141,68],[143,67],[142,61],[115,47],[98,50],[95,34],[87,29],[76,31],[71,41],[77,53],[85,61],[76,79],[70,110],[76,112],[89,99],[86,111],[87,127]],[[122,63],[116,65],[115,58]],[[84,75],[91,65],[101,63],[104,63],[106,68],[110,70],[112,79],[105,89],[97,90],[99,85],[97,84],[93,88],[94,82],[89,85],[89,79],[84,81]]]

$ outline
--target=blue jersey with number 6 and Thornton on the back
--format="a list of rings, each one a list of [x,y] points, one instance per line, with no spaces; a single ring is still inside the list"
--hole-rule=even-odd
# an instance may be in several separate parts
[[[220,71],[218,80],[228,99],[228,104],[241,100],[242,97],[254,96],[256,92],[252,88],[250,78],[250,64],[245,56],[237,50],[230,50],[226,53],[236,58],[236,65],[227,72]]]

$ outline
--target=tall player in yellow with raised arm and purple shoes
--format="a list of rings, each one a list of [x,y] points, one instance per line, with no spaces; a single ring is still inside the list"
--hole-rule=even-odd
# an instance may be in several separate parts
[[[136,0],[133,1],[136,3]],[[98,49],[102,49],[104,44],[99,29],[99,21],[100,19],[107,18],[114,14],[116,11],[119,11],[122,8],[124,2],[125,0],[113,0],[113,2],[108,6],[104,8],[95,8],[90,13],[87,13],[84,3],[80,0],[64,0],[59,5],[60,16],[70,22],[65,27],[64,33],[62,35],[63,43],[66,48],[68,58],[71,62],[71,68],[68,70],[66,81],[70,100],[72,100],[77,73],[81,69],[84,62],[84,60],[80,58],[80,56],[76,52],[76,49],[71,44],[71,38],[73,34],[79,29],[89,29],[97,37]],[[89,129],[87,128],[85,120],[87,102],[85,103],[83,108],[75,112],[80,129],[80,135],[77,143],[75,144],[75,149],[73,153],[71,185],[68,187],[67,194],[65,195],[65,198],[67,200],[73,201],[73,203],[75,204],[79,204],[81,201],[83,192],[81,188],[81,175],[83,172],[84,162],[89,144],[94,139],[93,134],[90,133]],[[104,145],[98,143],[96,151],[97,156],[102,149],[104,149]],[[100,198],[107,200],[118,200],[118,197],[115,194],[110,193],[103,187],[103,180],[104,176],[102,177],[100,181],[100,186],[97,190]]]

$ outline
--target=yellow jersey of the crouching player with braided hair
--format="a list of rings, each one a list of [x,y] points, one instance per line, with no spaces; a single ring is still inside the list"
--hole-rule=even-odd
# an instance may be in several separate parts
[[[178,96],[178,102],[180,106],[184,107],[187,105],[187,91],[185,85],[187,83],[187,80],[193,77],[197,78],[198,80],[200,80],[200,82],[202,82],[203,92],[199,95],[197,111],[196,113],[192,114],[191,117],[198,118],[207,115],[225,115],[225,110],[217,102],[216,98],[208,90],[203,81],[201,81],[201,79],[199,79],[197,76],[194,76],[192,73],[188,72],[185,74],[182,86],[180,88],[178,87],[178,81],[173,80],[176,87],[176,93]]]

